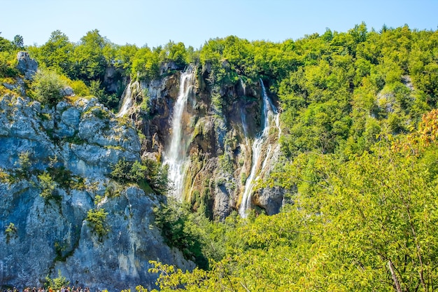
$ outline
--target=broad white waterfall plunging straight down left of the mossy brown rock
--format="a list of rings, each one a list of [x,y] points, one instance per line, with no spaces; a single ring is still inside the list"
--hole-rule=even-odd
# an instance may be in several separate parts
[[[192,92],[195,70],[192,67],[181,73],[178,98],[174,106],[171,127],[171,142],[166,153],[164,163],[169,165],[169,180],[171,181],[170,194],[174,197],[181,197],[184,180],[185,141],[183,137],[183,113],[187,105],[188,97]]]

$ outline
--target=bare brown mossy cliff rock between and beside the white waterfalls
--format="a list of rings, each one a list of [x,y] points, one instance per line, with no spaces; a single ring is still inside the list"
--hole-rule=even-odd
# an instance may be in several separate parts
[[[162,69],[167,75],[153,81],[136,81],[128,87],[138,88],[132,90],[131,100],[136,102],[132,103],[127,116],[135,120],[136,127],[144,135],[143,155],[158,160],[169,149],[171,118],[181,85],[181,71],[169,74],[167,67]],[[262,88],[259,82],[240,79],[237,83],[225,83],[213,90],[208,80],[209,70],[208,64],[198,69],[181,122],[183,140],[188,141],[185,145],[188,162],[181,197],[191,202],[194,210],[204,205],[208,216],[223,220],[233,210],[239,209],[250,174],[252,144],[262,128]],[[145,92],[147,97],[142,96]],[[148,112],[140,109],[145,98]],[[265,163],[274,165],[278,160],[277,142],[278,132],[274,131],[269,137],[274,151],[269,153],[271,158]],[[268,149],[262,151],[267,153]],[[262,162],[255,163],[261,168]],[[257,172],[257,177],[269,176],[268,169],[271,168],[263,173]],[[252,202],[267,214],[275,214],[282,205],[282,198],[280,189],[266,189],[257,191]]]

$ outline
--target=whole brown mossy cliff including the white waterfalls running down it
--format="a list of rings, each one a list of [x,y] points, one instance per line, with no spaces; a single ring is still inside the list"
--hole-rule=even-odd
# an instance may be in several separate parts
[[[223,220],[238,210],[246,184],[251,190],[246,192],[249,199],[243,209],[258,206],[268,214],[277,213],[283,192],[260,190],[263,200],[252,196],[253,183],[269,174],[279,155],[278,114],[274,119],[267,116],[272,114],[273,105],[262,81],[240,79],[235,84],[224,83],[216,92],[206,79],[208,66],[190,68],[190,74],[195,75],[190,85],[186,83],[188,73],[183,71],[153,81],[140,81],[137,92],[148,95],[143,97],[148,99],[147,113],[141,111],[141,102],[129,109],[124,107],[127,100],[136,99],[138,93],[130,88],[139,81],[127,85],[125,92],[132,93],[124,97],[120,111],[136,120],[144,134],[143,155],[162,158],[164,164],[168,163],[174,196],[190,202],[195,211],[204,205],[206,215],[211,218]],[[185,102],[181,104],[180,99]],[[259,147],[253,161],[252,145],[256,140]],[[174,169],[176,165],[178,170]],[[271,200],[270,194],[275,199]]]

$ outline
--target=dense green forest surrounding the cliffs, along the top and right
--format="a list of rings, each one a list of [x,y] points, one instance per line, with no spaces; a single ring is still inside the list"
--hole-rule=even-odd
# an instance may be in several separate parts
[[[171,63],[209,67],[213,92],[242,78],[269,85],[283,157],[259,183],[288,190],[287,204],[274,216],[215,222],[169,200],[157,224],[199,267],[154,262],[161,291],[438,289],[438,31],[362,23],[282,43],[228,36],[199,49],[119,46],[97,30],[78,43],[55,31],[26,48],[19,35],[0,37],[0,83],[17,76],[19,50],[40,68],[24,81],[27,95],[49,105],[69,85],[116,111],[125,84],[110,86],[108,68],[121,83],[169,74],[162,64]]]

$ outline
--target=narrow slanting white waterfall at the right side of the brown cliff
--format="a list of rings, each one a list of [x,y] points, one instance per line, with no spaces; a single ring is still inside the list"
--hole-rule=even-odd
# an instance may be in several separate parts
[[[246,218],[247,211],[251,206],[251,194],[253,193],[254,182],[258,179],[256,176],[257,173],[262,172],[264,167],[267,165],[267,160],[271,154],[272,147],[268,141],[269,136],[269,127],[271,127],[271,123],[274,121],[276,127],[278,128],[278,135],[280,133],[280,124],[279,124],[279,114],[272,104],[271,100],[267,96],[266,89],[264,88],[262,80],[260,80],[260,85],[262,86],[263,92],[263,130],[262,133],[255,138],[253,142],[253,159],[250,175],[248,179],[246,179],[245,190],[243,191],[242,202],[239,208],[239,214],[242,218]],[[265,151],[262,149],[265,148]],[[258,165],[262,161],[262,165],[259,169]]]

